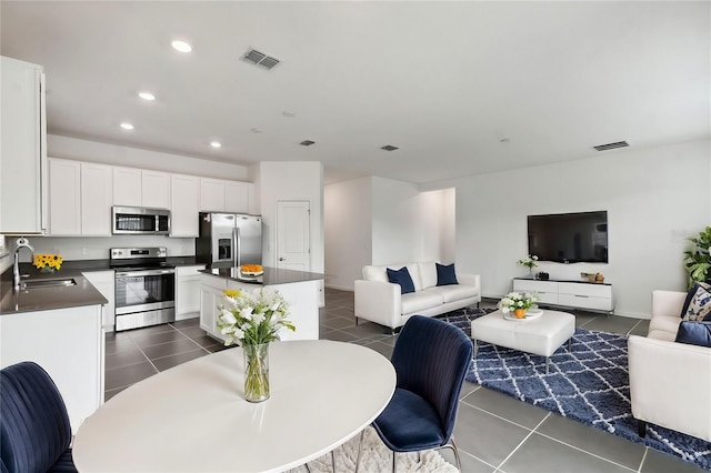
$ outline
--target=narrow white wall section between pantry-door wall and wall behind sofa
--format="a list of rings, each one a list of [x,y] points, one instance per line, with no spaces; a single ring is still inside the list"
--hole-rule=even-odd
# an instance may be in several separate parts
[[[347,291],[372,259],[371,178],[323,189],[326,285]]]

